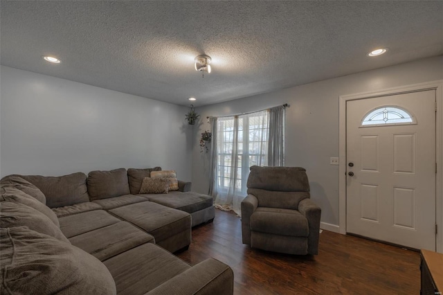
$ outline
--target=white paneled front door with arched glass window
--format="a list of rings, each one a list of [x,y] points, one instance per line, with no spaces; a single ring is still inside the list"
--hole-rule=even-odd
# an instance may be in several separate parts
[[[435,251],[435,90],[348,100],[346,150],[347,233]]]

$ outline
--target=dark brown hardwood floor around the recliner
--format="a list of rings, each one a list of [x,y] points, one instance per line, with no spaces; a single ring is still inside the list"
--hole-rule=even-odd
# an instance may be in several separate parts
[[[330,231],[318,256],[290,256],[242,244],[239,217],[216,210],[211,224],[192,229],[179,253],[195,265],[216,258],[234,271],[234,294],[419,294],[419,253]]]

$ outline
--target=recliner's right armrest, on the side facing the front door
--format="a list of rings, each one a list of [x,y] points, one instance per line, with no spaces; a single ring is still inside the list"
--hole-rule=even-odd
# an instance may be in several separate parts
[[[298,211],[307,219],[309,226],[309,236],[307,237],[307,252],[318,254],[318,240],[320,238],[320,217],[321,208],[311,199],[302,199],[298,204]]]

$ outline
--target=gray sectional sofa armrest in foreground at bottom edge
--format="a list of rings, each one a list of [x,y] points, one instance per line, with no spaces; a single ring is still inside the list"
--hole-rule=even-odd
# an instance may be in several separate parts
[[[152,289],[149,295],[233,294],[233,270],[219,260],[206,259]]]

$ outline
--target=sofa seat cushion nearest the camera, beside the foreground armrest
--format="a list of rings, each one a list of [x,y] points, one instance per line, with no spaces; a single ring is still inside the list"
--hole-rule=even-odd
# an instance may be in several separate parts
[[[143,244],[103,262],[120,295],[145,294],[190,265],[155,244]]]

